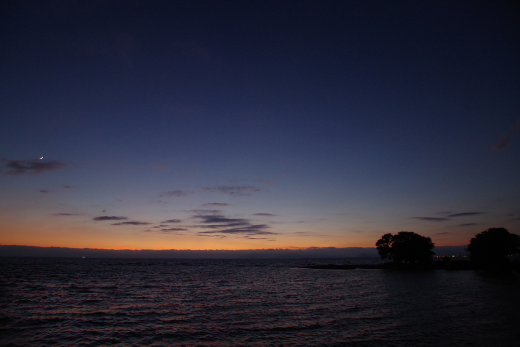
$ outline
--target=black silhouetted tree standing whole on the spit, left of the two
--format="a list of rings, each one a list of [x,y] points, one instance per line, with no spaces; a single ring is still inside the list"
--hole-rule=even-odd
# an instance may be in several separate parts
[[[391,259],[394,263],[429,263],[435,247],[432,239],[412,232],[385,234],[375,243],[381,259]]]

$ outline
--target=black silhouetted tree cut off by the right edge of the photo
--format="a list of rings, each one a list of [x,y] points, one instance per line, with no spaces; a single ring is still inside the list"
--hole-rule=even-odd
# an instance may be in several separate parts
[[[484,266],[498,267],[509,262],[508,255],[520,253],[520,235],[505,228],[489,228],[475,235],[467,245],[470,260]]]

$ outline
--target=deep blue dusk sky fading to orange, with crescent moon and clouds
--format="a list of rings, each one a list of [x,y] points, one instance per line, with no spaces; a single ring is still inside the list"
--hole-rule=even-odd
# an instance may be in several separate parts
[[[0,244],[520,233],[512,1],[4,1]]]

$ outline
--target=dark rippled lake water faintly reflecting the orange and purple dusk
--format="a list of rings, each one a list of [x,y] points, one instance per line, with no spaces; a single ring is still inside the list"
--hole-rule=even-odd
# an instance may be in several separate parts
[[[0,258],[0,345],[520,345],[517,274],[356,262]]]

